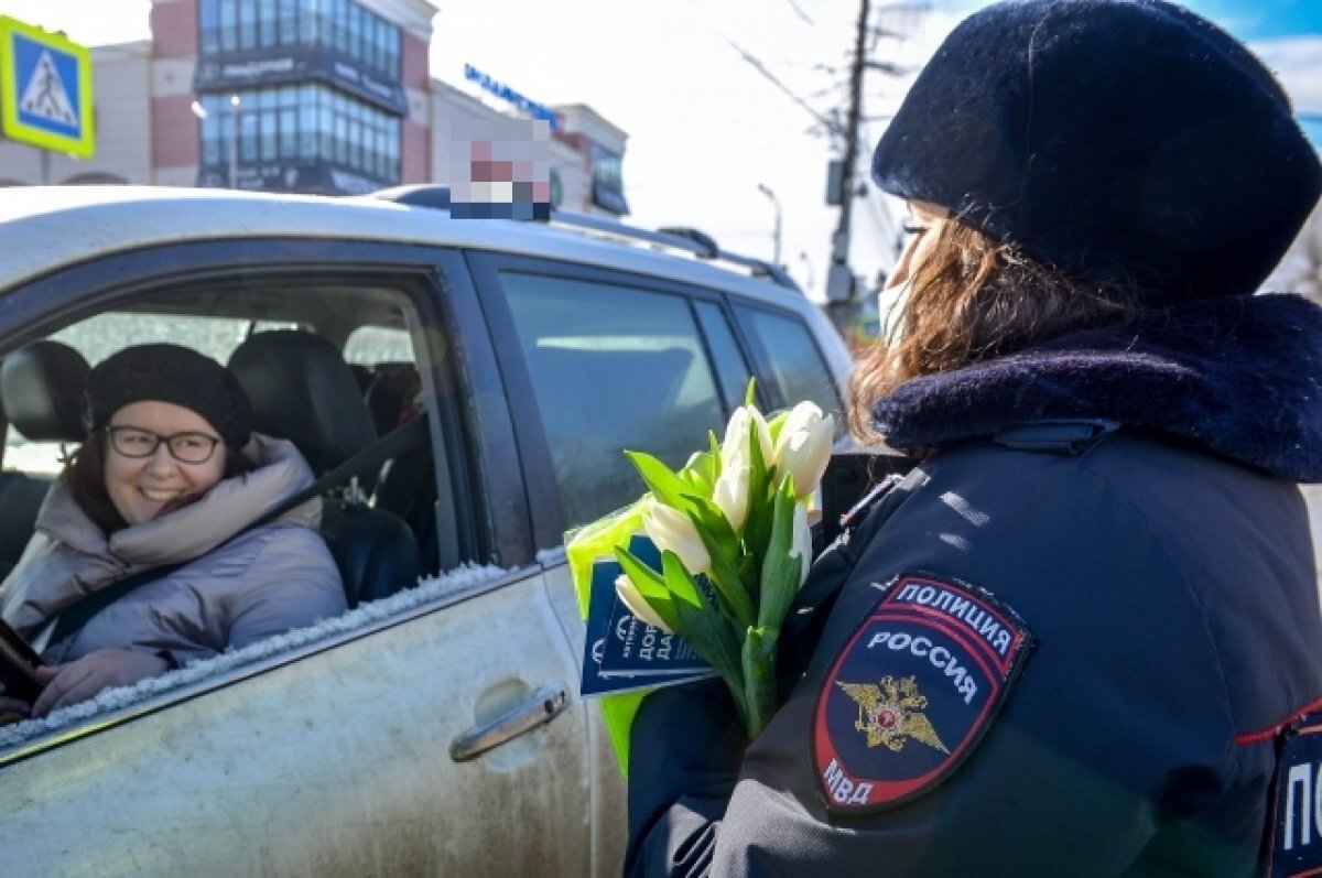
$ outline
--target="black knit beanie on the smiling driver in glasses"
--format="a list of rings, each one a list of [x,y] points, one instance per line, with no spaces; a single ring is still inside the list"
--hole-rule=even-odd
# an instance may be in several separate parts
[[[99,362],[87,376],[83,426],[90,434],[124,406],[147,399],[196,411],[230,448],[247,444],[253,406],[238,378],[210,357],[172,344],[124,348]]]

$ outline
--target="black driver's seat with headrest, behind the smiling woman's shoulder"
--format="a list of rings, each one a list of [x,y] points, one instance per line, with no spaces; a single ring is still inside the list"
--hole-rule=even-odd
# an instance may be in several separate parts
[[[234,350],[229,368],[253,402],[253,428],[292,442],[317,477],[377,439],[353,372],[320,336],[259,332]],[[408,526],[353,496],[325,501],[321,536],[350,607],[412,586],[422,574]]]

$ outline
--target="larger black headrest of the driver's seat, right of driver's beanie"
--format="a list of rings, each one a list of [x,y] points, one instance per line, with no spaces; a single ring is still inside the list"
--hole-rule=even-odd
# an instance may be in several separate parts
[[[319,476],[377,439],[353,372],[321,336],[259,332],[229,368],[253,402],[253,428],[292,442]]]

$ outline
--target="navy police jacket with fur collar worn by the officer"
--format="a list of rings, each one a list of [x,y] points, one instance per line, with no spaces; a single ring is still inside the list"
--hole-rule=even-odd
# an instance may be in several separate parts
[[[1322,698],[1318,376],[1314,305],[1232,298],[882,401],[920,463],[816,562],[765,731],[644,701],[627,874],[1260,874]]]

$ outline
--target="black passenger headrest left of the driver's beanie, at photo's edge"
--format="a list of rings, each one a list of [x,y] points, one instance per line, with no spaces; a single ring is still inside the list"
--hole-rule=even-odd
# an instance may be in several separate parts
[[[32,442],[82,442],[82,393],[91,366],[61,341],[34,341],[0,365],[0,406]]]

